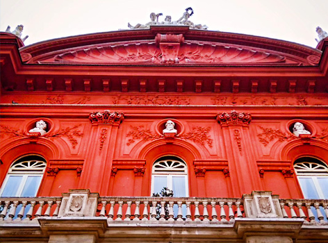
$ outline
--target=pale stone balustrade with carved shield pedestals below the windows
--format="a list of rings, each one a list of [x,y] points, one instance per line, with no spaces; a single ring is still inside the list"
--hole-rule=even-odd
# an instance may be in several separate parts
[[[299,218],[304,224],[326,225],[328,200],[279,199],[270,192],[253,192],[241,199],[99,197],[88,190],[71,190],[63,197],[0,197],[0,222],[28,222],[40,217],[199,224],[233,224],[236,218]]]

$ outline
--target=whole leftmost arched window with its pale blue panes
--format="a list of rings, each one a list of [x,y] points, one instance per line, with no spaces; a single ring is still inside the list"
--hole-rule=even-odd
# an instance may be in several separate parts
[[[47,162],[41,156],[19,158],[9,169],[0,196],[36,196],[46,167]]]

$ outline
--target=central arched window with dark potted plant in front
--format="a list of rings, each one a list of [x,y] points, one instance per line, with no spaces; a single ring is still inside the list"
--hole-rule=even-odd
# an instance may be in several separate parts
[[[188,168],[175,156],[164,156],[154,162],[152,169],[151,194],[159,193],[163,187],[173,190],[174,196],[188,196]]]

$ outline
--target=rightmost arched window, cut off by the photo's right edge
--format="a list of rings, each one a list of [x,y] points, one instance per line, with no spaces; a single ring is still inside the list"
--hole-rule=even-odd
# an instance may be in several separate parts
[[[294,169],[306,199],[328,199],[328,166],[313,157],[295,160]]]

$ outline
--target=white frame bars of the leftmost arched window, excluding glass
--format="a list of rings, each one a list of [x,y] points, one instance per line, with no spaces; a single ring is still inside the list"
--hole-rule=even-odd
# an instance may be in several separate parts
[[[12,176],[12,177],[13,176],[22,177],[22,181],[20,181],[20,183],[19,183],[19,187],[17,188],[17,192],[15,193],[15,196],[21,196],[22,195],[22,192],[23,192],[24,187],[26,185],[26,181],[29,177],[40,177],[40,181],[38,183],[38,190],[40,189],[42,176],[44,175],[44,171],[47,167],[47,162],[43,161],[44,158],[42,158],[43,160],[22,160],[25,157],[27,159],[29,156],[38,156],[38,157],[40,157],[40,159],[42,158],[39,155],[30,154],[28,156],[21,157],[21,158],[17,159],[15,162],[13,162],[13,165],[11,165],[10,169],[8,170],[6,178],[3,180],[2,186],[0,188],[0,196],[2,196],[3,191],[5,190],[6,185],[9,181],[10,176]],[[22,161],[17,163],[18,160],[22,160]],[[42,162],[42,163],[41,163],[41,165],[39,164],[40,166],[38,166],[38,167],[33,167],[33,166],[30,166],[30,167],[16,167],[17,165],[22,164],[24,162],[28,162],[28,161],[29,162],[38,161],[38,162]],[[36,190],[34,196],[36,196],[36,194],[38,194],[38,190]]]

